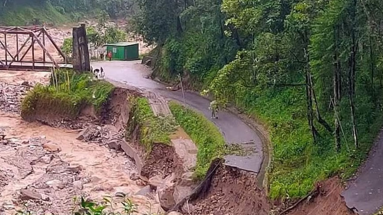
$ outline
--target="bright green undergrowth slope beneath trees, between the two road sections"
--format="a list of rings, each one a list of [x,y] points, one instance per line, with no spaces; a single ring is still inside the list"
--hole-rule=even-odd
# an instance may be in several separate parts
[[[236,104],[248,114],[267,124],[273,144],[269,169],[272,199],[300,198],[310,192],[316,182],[338,174],[347,179],[357,171],[382,126],[383,114],[367,97],[357,97],[357,122],[360,148],[356,149],[351,134],[349,103],[342,101],[342,152],[336,153],[334,137],[316,122],[321,138],[313,142],[308,127],[305,95],[302,89],[265,90],[261,94],[244,94]],[[238,98],[241,98],[239,96]],[[327,122],[333,116],[324,114]]]

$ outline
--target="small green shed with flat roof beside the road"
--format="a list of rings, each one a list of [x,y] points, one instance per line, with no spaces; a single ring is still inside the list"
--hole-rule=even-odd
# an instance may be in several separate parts
[[[137,60],[138,42],[106,44],[106,53],[112,52],[112,60]]]

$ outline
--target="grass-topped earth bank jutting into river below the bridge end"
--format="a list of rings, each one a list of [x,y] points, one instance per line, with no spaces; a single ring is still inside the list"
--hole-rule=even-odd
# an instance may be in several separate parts
[[[93,80],[91,73],[57,70],[50,85],[37,85],[28,92],[21,103],[21,116],[28,119],[43,111],[75,117],[88,105],[99,111],[113,89],[114,86],[106,81]]]

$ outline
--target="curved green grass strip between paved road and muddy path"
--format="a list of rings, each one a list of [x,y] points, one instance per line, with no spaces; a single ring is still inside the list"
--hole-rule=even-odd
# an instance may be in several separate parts
[[[198,179],[205,177],[211,161],[222,157],[225,153],[225,140],[217,127],[205,116],[191,109],[185,111],[184,107],[170,102],[169,108],[178,124],[197,145],[197,166],[195,176]]]

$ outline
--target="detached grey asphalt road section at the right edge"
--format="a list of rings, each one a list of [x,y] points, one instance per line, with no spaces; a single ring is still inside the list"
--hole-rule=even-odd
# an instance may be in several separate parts
[[[361,215],[375,213],[383,205],[383,133],[381,132],[369,159],[355,181],[349,183],[342,196],[347,207],[355,207]]]

